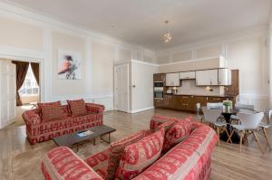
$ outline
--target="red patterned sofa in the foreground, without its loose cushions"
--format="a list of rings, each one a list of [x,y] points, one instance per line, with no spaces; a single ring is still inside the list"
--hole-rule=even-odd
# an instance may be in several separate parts
[[[158,120],[151,119],[151,130],[153,131],[160,127],[166,121],[168,120],[159,120],[158,122]],[[186,131],[185,128],[181,131],[184,132],[184,130]],[[151,131],[147,134],[150,135]],[[136,134],[135,136],[138,135]],[[165,154],[161,154],[157,161],[152,163],[148,168],[145,168],[140,175],[135,176],[133,179],[207,180],[211,172],[211,153],[217,140],[217,134],[212,128],[192,122],[192,128],[188,137],[184,138],[176,146],[171,147]],[[107,167],[112,165],[111,160],[109,160],[111,147],[89,156],[85,161],[74,154],[68,147],[55,147],[44,156],[42,161],[41,168],[44,177],[46,180],[131,179],[128,177],[120,178],[120,176],[115,176],[115,178],[105,177]],[[153,152],[154,147],[151,146],[151,149]],[[146,155],[150,155],[150,153]],[[130,156],[135,157],[135,154],[132,153]],[[123,156],[121,161],[122,159]],[[116,175],[120,172],[119,168],[120,166]]]

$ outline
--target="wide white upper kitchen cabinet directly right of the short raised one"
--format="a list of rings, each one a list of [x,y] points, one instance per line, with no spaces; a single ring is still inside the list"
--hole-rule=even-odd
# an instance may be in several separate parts
[[[196,71],[197,86],[217,86],[219,85],[219,70]]]

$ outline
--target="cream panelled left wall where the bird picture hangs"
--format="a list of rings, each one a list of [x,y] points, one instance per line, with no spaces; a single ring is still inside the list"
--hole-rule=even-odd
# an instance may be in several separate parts
[[[154,52],[0,3],[0,58],[41,62],[41,100],[79,99],[113,109],[113,63],[153,62]],[[57,79],[59,49],[82,53],[82,79]]]

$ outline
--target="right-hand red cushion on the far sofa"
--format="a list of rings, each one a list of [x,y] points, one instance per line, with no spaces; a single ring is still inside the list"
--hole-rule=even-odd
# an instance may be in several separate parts
[[[87,109],[83,99],[67,100],[67,103],[73,117],[83,116],[87,114]]]

